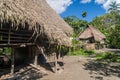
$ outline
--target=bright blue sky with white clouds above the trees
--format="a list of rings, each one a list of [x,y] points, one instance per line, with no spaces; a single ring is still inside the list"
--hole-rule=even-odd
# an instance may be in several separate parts
[[[77,16],[80,19],[92,21],[96,16],[107,13],[111,2],[120,0],[46,0],[47,3],[62,17]],[[82,18],[82,12],[87,12]]]

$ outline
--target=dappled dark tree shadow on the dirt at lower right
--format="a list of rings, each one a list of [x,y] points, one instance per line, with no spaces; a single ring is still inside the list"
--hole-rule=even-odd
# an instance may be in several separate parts
[[[89,70],[89,74],[96,74],[100,76],[116,76],[120,78],[120,63],[109,63],[96,60],[88,60],[83,64],[85,70]],[[103,77],[95,77],[98,80],[103,80]],[[92,76],[91,76],[92,77]]]

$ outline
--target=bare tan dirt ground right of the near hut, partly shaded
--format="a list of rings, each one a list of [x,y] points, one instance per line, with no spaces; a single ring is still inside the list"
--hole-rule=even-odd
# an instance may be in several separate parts
[[[65,56],[64,70],[49,73],[40,80],[120,80],[120,64],[100,64],[88,57]]]

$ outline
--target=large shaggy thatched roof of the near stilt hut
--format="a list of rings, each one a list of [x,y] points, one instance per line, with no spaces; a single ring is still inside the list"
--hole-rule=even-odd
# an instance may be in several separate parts
[[[14,29],[19,25],[34,30],[39,37],[47,37],[49,42],[71,46],[68,36],[72,28],[50,8],[45,0],[0,0],[0,24],[12,23]],[[26,25],[26,23],[28,25]]]

